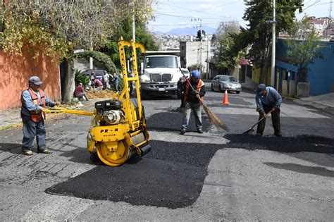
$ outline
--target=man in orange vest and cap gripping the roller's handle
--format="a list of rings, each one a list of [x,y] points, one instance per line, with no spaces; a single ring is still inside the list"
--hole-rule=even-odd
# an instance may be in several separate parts
[[[23,122],[22,152],[25,155],[32,155],[32,144],[35,136],[37,141],[37,152],[50,154],[45,144],[46,131],[42,110],[45,106],[58,106],[58,101],[52,101],[40,89],[42,81],[37,76],[29,78],[29,88],[21,94],[21,117]]]

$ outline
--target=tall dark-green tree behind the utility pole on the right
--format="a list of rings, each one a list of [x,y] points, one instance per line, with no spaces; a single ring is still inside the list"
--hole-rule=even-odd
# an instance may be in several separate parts
[[[245,0],[247,7],[243,19],[247,29],[240,33],[247,45],[252,45],[248,57],[261,67],[259,82],[264,82],[266,69],[271,58],[273,7],[272,0]],[[302,12],[302,0],[276,0],[276,35],[286,31],[295,21],[295,11]],[[246,33],[247,32],[247,33]]]

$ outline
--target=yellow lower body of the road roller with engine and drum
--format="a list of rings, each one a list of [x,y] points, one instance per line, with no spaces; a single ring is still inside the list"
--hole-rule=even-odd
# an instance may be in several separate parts
[[[87,136],[92,160],[98,156],[104,164],[118,166],[131,156],[142,156],[151,150],[146,121],[144,115],[139,115],[135,99],[97,101],[95,112]],[[138,118],[140,116],[141,119]]]

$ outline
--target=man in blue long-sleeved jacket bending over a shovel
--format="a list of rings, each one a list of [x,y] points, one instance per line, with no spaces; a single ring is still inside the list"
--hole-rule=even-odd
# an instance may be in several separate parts
[[[271,111],[271,121],[273,121],[274,135],[281,137],[280,133],[280,104],[282,97],[273,87],[266,87],[260,84],[257,87],[257,94],[255,97],[257,110],[259,111],[259,120]],[[266,118],[264,118],[257,125],[256,135],[263,135],[266,126]]]

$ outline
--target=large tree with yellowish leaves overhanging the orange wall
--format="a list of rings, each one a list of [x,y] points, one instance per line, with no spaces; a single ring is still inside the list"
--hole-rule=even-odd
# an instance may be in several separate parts
[[[138,19],[152,13],[151,0],[137,0],[132,6]],[[23,47],[59,58],[66,66],[63,101],[70,102],[74,90],[73,49],[99,49],[128,13],[123,0],[11,0],[1,7],[4,23],[0,41],[5,51],[21,54]],[[3,15],[3,16],[1,16]]]

